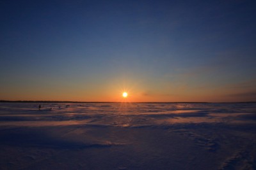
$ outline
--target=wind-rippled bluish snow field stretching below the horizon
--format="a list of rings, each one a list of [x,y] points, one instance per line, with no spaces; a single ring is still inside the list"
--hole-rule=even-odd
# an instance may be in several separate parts
[[[256,169],[255,132],[255,103],[0,103],[0,169]]]

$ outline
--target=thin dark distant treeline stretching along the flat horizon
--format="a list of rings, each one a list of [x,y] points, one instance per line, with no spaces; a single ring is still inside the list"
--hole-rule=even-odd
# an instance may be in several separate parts
[[[122,103],[122,102],[95,102],[95,101],[6,101],[0,100],[0,103]],[[209,102],[131,102],[131,103],[209,103]],[[228,102],[222,102],[228,103]],[[256,101],[230,102],[230,103],[256,103]]]

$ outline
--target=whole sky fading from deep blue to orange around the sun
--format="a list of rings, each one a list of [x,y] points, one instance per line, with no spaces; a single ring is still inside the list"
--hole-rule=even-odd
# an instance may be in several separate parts
[[[256,1],[0,1],[0,99],[256,101]]]

